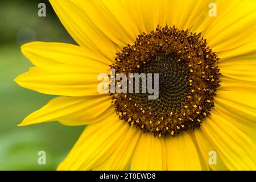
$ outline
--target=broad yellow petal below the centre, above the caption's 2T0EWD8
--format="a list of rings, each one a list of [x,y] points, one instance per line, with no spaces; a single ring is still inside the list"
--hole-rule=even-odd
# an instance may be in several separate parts
[[[131,170],[166,170],[166,160],[164,139],[142,134],[131,159]]]

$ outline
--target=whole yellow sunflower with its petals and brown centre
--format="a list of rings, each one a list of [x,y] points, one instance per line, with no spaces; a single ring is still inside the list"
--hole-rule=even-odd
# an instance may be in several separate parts
[[[19,126],[88,125],[57,169],[256,169],[255,1],[50,2],[79,46],[24,44],[15,81],[60,96]],[[159,73],[158,99],[98,93],[112,68]]]

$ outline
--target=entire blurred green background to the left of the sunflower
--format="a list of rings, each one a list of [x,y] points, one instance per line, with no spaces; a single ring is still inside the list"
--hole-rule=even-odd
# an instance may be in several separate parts
[[[38,16],[40,2],[46,3],[46,17]],[[55,96],[21,88],[13,79],[31,67],[20,52],[23,43],[75,42],[47,1],[1,1],[0,17],[0,170],[54,170],[84,126],[48,122],[18,127]],[[46,165],[38,164],[39,151],[46,151]]]

